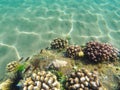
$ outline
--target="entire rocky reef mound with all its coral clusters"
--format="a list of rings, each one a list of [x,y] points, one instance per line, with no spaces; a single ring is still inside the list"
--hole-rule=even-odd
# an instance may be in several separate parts
[[[1,82],[0,90],[119,90],[120,79],[116,77],[119,77],[120,62],[116,59],[120,58],[120,51],[109,44],[99,42],[88,42],[85,47],[81,47],[68,46],[66,40],[57,38],[51,43],[52,50],[42,49],[32,57],[12,61],[6,66],[7,77]],[[58,49],[59,53],[53,49]],[[63,57],[64,52],[69,58]],[[86,58],[80,58],[84,54]],[[86,65],[88,61],[83,63],[73,59],[116,61]],[[96,72],[78,68],[97,70],[100,78]]]

